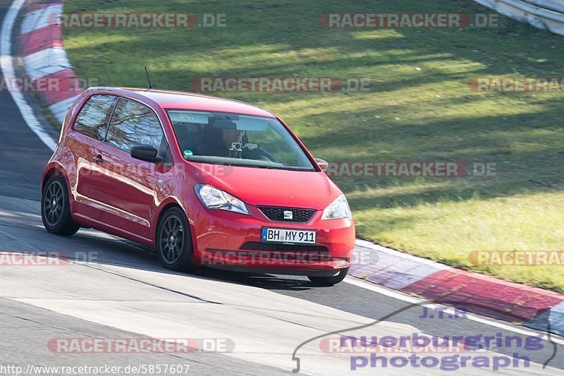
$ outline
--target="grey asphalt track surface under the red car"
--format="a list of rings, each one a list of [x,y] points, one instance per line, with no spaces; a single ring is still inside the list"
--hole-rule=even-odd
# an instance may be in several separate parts
[[[4,18],[7,5],[2,6],[0,17]],[[347,281],[320,287],[305,277],[213,269],[179,274],[162,268],[151,250],[99,231],[81,229],[70,238],[49,234],[39,214],[39,177],[51,152],[27,128],[8,93],[0,93],[0,111],[0,250],[13,255],[54,251],[70,258],[61,265],[0,265],[0,375],[14,374],[2,369],[8,365],[23,370],[29,365],[109,365],[122,367],[120,375],[126,373],[125,367],[139,365],[189,365],[192,375],[292,374],[293,352],[300,344],[297,356],[304,374],[564,374],[564,347],[548,341],[542,341],[540,349],[517,346],[515,341],[484,352],[492,362],[495,356],[519,353],[530,359],[529,368],[510,366],[494,372],[469,365],[441,371],[437,366],[372,368],[367,363],[352,371],[350,354],[321,351],[322,336],[335,338],[338,334],[327,333],[342,331],[369,339],[397,338],[417,332],[450,338],[518,336],[525,343],[528,334],[535,332],[495,320],[488,320],[489,324],[464,317],[441,318],[436,312],[433,318],[422,317],[419,305]],[[385,320],[371,325],[382,317]],[[360,325],[366,327],[347,329]],[[316,336],[321,338],[307,342]],[[61,338],[149,337],[226,339],[235,348],[140,354],[61,353],[48,346],[49,341]],[[548,367],[542,368],[547,361]],[[30,374],[57,373],[35,370]]]

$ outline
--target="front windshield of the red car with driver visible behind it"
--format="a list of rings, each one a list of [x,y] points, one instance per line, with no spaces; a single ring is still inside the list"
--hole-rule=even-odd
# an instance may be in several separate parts
[[[180,150],[189,161],[315,171],[278,119],[168,110]]]

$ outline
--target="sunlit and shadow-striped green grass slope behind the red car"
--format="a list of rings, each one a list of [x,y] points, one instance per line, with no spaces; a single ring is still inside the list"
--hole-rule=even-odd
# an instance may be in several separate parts
[[[258,5],[257,5],[258,4]],[[262,4],[262,5],[261,5]],[[368,92],[217,93],[266,107],[331,162],[494,163],[496,176],[336,177],[357,235],[448,265],[564,291],[563,267],[478,267],[472,250],[564,250],[563,92],[472,92],[477,76],[559,76],[564,37],[503,28],[321,27],[322,13],[491,13],[470,0],[67,0],[66,12],[225,13],[225,28],[65,29],[82,78],[192,90],[196,77],[364,78]]]

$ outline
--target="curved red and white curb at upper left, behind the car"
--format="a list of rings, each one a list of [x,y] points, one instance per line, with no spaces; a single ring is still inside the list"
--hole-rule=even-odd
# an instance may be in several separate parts
[[[82,92],[78,77],[68,61],[61,40],[57,16],[63,13],[63,1],[42,4],[27,10],[21,25],[20,42],[25,73],[33,80],[54,82],[54,90],[42,92],[51,114],[63,122],[71,104]]]

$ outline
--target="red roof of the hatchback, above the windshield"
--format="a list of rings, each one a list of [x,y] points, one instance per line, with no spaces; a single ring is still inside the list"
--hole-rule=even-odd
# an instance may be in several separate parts
[[[173,90],[140,89],[136,87],[91,87],[90,90],[111,91],[116,95],[125,95],[142,99],[151,99],[164,109],[192,109],[197,111],[231,112],[254,116],[275,117],[270,111],[235,99],[210,97],[209,95]]]

